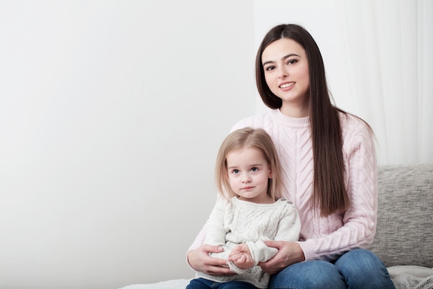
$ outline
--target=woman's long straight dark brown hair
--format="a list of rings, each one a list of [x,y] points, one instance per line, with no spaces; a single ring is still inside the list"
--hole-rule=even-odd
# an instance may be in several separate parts
[[[311,140],[313,142],[313,204],[320,209],[320,216],[329,216],[349,208],[349,196],[344,186],[344,159],[342,130],[338,109],[331,103],[322,54],[313,37],[302,26],[282,24],[265,35],[256,56],[257,89],[265,105],[272,109],[282,107],[282,99],[270,91],[264,77],[261,54],[276,40],[288,38],[299,43],[308,59],[310,76],[309,101]]]

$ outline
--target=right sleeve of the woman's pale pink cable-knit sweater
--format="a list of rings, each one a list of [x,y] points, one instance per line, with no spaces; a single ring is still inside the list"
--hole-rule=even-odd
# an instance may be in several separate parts
[[[353,116],[348,116],[349,118]],[[344,212],[342,226],[318,238],[299,242],[306,261],[332,261],[344,252],[365,248],[376,233],[378,206],[377,166],[371,130],[362,121],[345,123],[343,150],[347,193],[351,206]],[[335,216],[329,216],[335,218]],[[329,220],[329,222],[340,222]]]

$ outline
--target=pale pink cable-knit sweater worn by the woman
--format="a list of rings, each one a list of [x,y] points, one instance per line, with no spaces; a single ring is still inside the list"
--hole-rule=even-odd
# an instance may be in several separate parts
[[[301,219],[299,244],[306,261],[331,261],[350,249],[365,248],[376,232],[377,167],[374,138],[360,119],[340,114],[345,183],[351,207],[326,218],[312,207],[313,150],[309,118],[293,119],[279,110],[239,121],[232,130],[264,128],[272,137],[283,167],[283,198],[297,207]],[[317,209],[316,209],[317,210]],[[189,250],[203,243],[206,225]]]

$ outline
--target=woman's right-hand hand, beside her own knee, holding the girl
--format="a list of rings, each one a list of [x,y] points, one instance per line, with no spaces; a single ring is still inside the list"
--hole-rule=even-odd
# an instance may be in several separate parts
[[[305,261],[304,252],[298,243],[286,242],[286,241],[265,241],[268,247],[274,247],[278,249],[278,252],[273,258],[266,262],[259,263],[264,272],[269,274],[275,274],[288,265]]]

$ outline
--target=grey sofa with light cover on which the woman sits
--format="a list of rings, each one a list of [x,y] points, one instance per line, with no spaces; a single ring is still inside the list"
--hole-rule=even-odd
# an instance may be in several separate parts
[[[378,224],[369,249],[383,260],[396,289],[433,289],[433,164],[378,167]],[[181,289],[187,283],[122,289]]]

